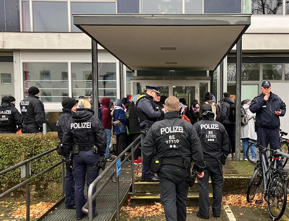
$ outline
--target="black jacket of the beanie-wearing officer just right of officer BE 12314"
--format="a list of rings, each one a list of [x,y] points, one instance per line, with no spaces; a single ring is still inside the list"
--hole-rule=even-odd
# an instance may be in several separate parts
[[[22,124],[35,124],[38,127],[43,127],[45,123],[45,110],[43,103],[39,97],[29,94],[20,102],[22,114]]]

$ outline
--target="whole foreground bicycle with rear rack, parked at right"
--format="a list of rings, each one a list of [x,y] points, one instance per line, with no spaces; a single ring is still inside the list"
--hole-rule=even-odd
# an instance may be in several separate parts
[[[249,181],[247,201],[255,200],[256,204],[262,204],[264,197],[270,217],[273,220],[279,220],[283,216],[287,205],[288,175],[286,171],[276,168],[276,161],[280,160],[281,156],[289,158],[289,154],[280,150],[264,148],[259,142],[249,141],[249,143],[259,148],[260,160],[257,160],[255,171]],[[268,158],[271,161],[269,166],[265,158],[267,151],[271,151]],[[257,194],[259,194],[262,186],[261,200],[257,200]]]

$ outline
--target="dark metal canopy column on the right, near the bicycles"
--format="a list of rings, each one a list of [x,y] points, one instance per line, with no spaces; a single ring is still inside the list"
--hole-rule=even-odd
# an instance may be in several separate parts
[[[237,42],[237,71],[236,71],[236,161],[241,157],[241,76],[242,76],[242,37]]]

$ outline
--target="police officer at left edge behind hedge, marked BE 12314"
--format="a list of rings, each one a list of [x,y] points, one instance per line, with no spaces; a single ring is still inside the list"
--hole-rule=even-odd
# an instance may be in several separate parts
[[[2,97],[0,106],[0,133],[15,133],[16,130],[21,129],[21,126],[21,114],[15,106],[10,103],[9,97]]]

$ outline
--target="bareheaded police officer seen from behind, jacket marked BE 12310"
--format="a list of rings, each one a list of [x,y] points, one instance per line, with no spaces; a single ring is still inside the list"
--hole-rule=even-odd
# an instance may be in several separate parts
[[[199,136],[192,124],[180,119],[179,109],[179,100],[168,97],[164,120],[151,126],[142,146],[143,161],[160,178],[161,200],[168,221],[186,220],[191,160],[197,165],[199,177],[205,167]]]

